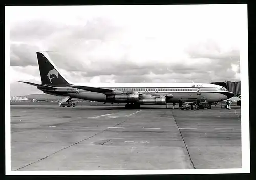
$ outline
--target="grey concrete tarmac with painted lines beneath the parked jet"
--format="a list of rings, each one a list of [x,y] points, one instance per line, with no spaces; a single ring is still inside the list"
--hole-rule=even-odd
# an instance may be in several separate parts
[[[242,167],[240,108],[172,107],[11,105],[11,170]]]

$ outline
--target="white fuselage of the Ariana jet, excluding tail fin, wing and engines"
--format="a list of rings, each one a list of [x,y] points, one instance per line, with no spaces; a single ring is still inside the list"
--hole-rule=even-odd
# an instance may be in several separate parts
[[[189,99],[206,99],[207,102],[219,102],[233,96],[232,92],[215,84],[205,83],[97,83],[97,84],[76,84],[82,86],[99,87],[114,89],[118,92],[138,92],[148,95],[171,94],[173,98],[168,99],[167,103],[178,103]],[[108,101],[103,93],[84,91],[76,88],[58,87],[52,91],[44,91],[48,94],[58,96],[70,96],[72,98],[98,101],[98,102],[122,102]],[[123,101],[127,102],[127,101]]]

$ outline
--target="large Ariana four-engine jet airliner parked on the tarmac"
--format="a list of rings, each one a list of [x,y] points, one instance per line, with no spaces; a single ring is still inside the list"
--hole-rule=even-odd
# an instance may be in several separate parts
[[[23,82],[36,86],[46,94],[65,96],[69,100],[105,103],[127,103],[125,108],[140,108],[141,105],[166,105],[189,100],[205,99],[209,106],[234,96],[226,88],[207,83],[77,83],[65,78],[46,52],[36,52],[41,84]],[[211,107],[211,106],[210,106]]]

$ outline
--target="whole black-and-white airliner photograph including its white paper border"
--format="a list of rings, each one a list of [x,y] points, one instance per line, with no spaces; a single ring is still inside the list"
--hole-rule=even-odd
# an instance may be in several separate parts
[[[5,6],[6,174],[249,173],[247,31],[246,4]]]

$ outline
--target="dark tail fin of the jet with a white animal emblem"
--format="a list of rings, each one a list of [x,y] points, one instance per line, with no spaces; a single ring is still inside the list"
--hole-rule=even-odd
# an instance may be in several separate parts
[[[55,64],[45,52],[36,52],[38,66],[43,85],[68,86],[72,85],[65,79],[56,68]]]

